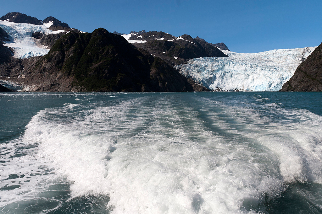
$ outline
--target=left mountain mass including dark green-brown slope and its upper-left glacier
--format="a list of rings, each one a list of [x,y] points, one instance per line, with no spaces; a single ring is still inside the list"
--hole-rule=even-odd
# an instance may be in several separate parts
[[[14,82],[22,91],[209,91],[105,29],[85,33],[54,17],[41,21],[22,13],[0,20],[0,76],[8,87]]]

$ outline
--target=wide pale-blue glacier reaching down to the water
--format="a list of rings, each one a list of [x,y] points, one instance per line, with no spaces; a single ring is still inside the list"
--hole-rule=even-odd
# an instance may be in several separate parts
[[[228,58],[194,58],[176,68],[184,76],[192,77],[211,90],[279,91],[315,48],[278,49],[251,54],[222,50]]]

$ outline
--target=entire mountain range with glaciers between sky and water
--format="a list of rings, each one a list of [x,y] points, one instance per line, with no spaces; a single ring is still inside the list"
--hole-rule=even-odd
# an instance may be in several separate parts
[[[242,54],[186,34],[86,33],[52,16],[7,13],[0,91],[279,90],[287,80],[282,91],[322,91],[322,44],[313,49]]]

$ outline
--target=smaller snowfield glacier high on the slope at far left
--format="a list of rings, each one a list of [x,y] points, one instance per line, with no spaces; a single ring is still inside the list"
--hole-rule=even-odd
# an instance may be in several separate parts
[[[46,55],[50,49],[47,49],[47,47],[40,44],[37,39],[33,38],[33,33],[41,32],[43,34],[56,34],[67,32],[63,30],[49,30],[47,29],[49,24],[50,23],[45,26],[0,20],[0,27],[3,28],[10,37],[10,41],[5,42],[4,46],[12,48],[14,50],[14,57],[16,58],[29,58]]]

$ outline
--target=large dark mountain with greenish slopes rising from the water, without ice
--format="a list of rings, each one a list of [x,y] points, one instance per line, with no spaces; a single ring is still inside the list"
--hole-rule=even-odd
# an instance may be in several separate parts
[[[162,59],[102,28],[92,33],[70,31],[48,54],[23,59],[21,65],[22,70],[8,76],[28,85],[29,91],[207,90]]]

